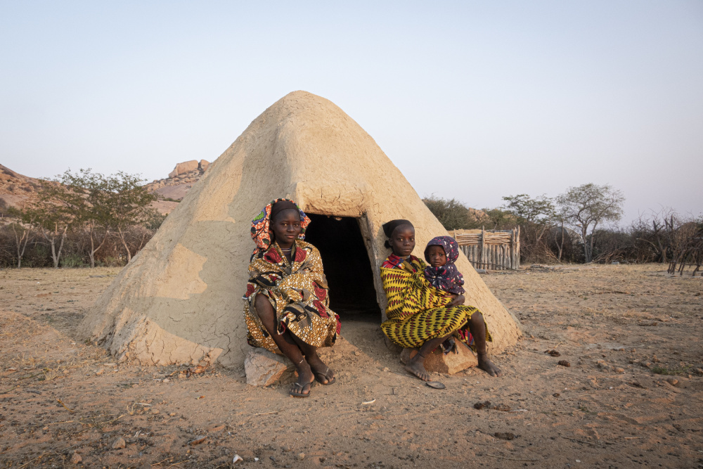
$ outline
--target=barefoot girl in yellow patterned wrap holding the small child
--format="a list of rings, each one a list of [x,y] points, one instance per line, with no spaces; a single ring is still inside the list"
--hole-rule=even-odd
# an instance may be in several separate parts
[[[386,247],[393,252],[381,265],[381,281],[388,300],[388,320],[381,329],[397,345],[419,349],[406,371],[421,380],[430,380],[425,357],[444,341],[457,338],[476,350],[479,368],[491,376],[501,375],[486,352],[486,340],[492,339],[481,311],[465,306],[463,295],[432,286],[425,278],[425,262],[411,254],[415,248],[413,224],[392,220],[383,225],[383,231],[389,238]]]

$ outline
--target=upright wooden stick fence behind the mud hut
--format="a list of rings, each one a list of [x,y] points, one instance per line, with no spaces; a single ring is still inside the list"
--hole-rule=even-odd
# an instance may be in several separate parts
[[[454,239],[476,269],[520,269],[520,226],[477,233],[454,231]]]

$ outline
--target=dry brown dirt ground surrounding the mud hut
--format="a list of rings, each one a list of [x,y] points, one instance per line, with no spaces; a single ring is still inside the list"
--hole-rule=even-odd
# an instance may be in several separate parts
[[[703,467],[699,277],[660,265],[486,274],[525,329],[494,357],[503,377],[472,369],[426,387],[385,348],[378,318],[352,316],[324,354],[337,383],[295,399],[241,370],[115,363],[79,342],[83,309],[115,274],[0,271],[0,468]]]

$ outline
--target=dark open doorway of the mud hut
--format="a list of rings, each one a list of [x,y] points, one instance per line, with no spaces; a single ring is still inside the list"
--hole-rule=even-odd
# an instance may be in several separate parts
[[[373,270],[363,243],[359,219],[307,214],[305,240],[320,250],[330,286],[330,308],[346,319],[380,321]]]

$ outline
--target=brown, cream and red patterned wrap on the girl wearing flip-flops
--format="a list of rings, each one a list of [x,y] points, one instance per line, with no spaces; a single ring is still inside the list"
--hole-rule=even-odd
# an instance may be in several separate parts
[[[331,347],[342,327],[340,317],[329,308],[330,295],[320,252],[314,245],[296,240],[292,264],[277,243],[260,250],[249,264],[249,281],[244,295],[247,342],[280,353],[276,342],[254,309],[259,293],[266,295],[276,311],[277,333],[285,330],[313,347]]]

